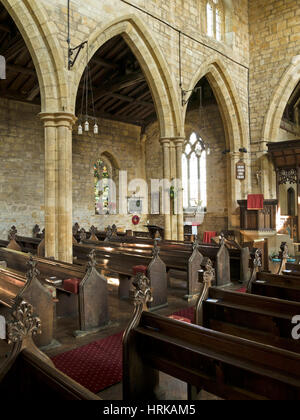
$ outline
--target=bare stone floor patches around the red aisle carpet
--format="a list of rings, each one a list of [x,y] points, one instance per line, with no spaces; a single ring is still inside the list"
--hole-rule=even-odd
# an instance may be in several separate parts
[[[241,285],[235,285],[232,288],[236,289]],[[184,309],[188,306],[193,306],[195,302],[187,302],[183,299],[185,294],[184,283],[173,282],[172,288],[168,292],[168,307],[156,311],[160,315],[170,315],[175,311]],[[59,347],[51,350],[45,350],[49,357],[72,350],[74,348],[86,345],[93,341],[105,338],[124,330],[131,318],[133,311],[133,304],[127,300],[120,300],[118,298],[117,287],[109,285],[109,311],[111,325],[104,328],[102,331],[91,334],[81,338],[75,338],[72,332],[78,329],[77,321],[75,319],[61,318],[56,321],[55,339],[60,343]],[[0,363],[5,354],[9,352],[9,347],[0,342]],[[187,386],[185,383],[171,378],[168,375],[160,373],[160,385],[165,392],[166,400],[185,400],[187,398]],[[103,390],[98,394],[104,400],[120,400],[122,399],[122,383],[116,384]],[[203,393],[201,399],[217,399],[213,395]]]

